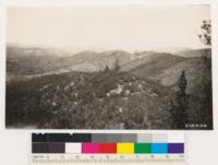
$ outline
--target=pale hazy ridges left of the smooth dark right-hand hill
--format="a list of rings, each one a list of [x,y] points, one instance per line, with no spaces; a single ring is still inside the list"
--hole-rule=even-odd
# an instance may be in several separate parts
[[[7,47],[7,71],[19,74],[40,74],[59,71],[93,72],[114,67],[116,61],[123,66],[133,60],[133,54],[123,50],[104,52],[82,51],[72,56],[59,56],[60,51],[44,48]],[[141,57],[150,52],[138,52]],[[137,58],[137,57],[136,57]]]

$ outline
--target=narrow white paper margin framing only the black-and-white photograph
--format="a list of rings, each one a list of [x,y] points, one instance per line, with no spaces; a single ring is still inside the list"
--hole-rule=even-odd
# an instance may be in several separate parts
[[[136,1],[132,1],[132,0],[126,0],[126,1],[108,1],[108,0],[94,0],[94,1],[85,1],[85,0],[82,0],[82,1],[75,1],[75,0],[48,0],[48,1],[43,1],[43,0],[8,0],[7,2],[4,2],[4,8],[2,5],[2,10],[4,11],[3,13],[3,16],[2,16],[2,20],[3,20],[3,26],[2,26],[2,30],[3,30],[3,34],[1,36],[2,37],[2,40],[0,40],[0,52],[1,52],[1,57],[2,59],[5,59],[5,32],[7,32],[7,28],[5,28],[5,22],[7,22],[7,15],[5,15],[5,11],[7,11],[7,7],[11,7],[11,5],[48,5],[48,7],[51,7],[51,5],[183,5],[183,4],[209,4],[211,7],[211,34],[213,34],[213,38],[211,38],[211,52],[213,52],[213,93],[214,93],[214,98],[216,97],[216,93],[215,93],[215,90],[216,90],[216,82],[217,82],[217,78],[216,78],[216,74],[215,74],[215,70],[217,70],[215,67],[217,63],[217,59],[214,55],[216,55],[217,50],[215,49],[216,46],[216,39],[217,39],[217,36],[216,36],[216,26],[217,26],[217,19],[216,19],[216,5],[217,1],[215,0],[183,0],[183,1],[180,1],[180,0],[136,0]],[[1,63],[0,63],[1,68],[1,76],[0,76],[0,86],[2,86],[0,90],[0,94],[1,94],[1,98],[3,98],[3,101],[1,99],[1,118],[0,118],[0,122],[3,121],[3,123],[1,123],[1,128],[4,128],[5,129],[5,60],[1,60]],[[213,115],[215,116],[215,104],[216,104],[216,101],[214,99],[214,107],[213,107]],[[216,106],[217,107],[217,106]],[[3,109],[2,109],[3,108]],[[3,117],[3,118],[2,118]],[[215,120],[214,120],[214,129],[216,127],[216,123],[215,123]],[[178,130],[113,130],[113,129],[110,129],[110,130],[107,130],[107,129],[102,129],[102,130],[99,130],[99,129],[8,129],[8,130],[28,130],[28,131],[39,131],[39,132],[48,132],[48,131],[59,131],[59,132],[65,132],[65,131],[76,131],[76,132],[149,132],[149,131],[158,131],[158,132],[161,132],[161,131],[178,131]],[[192,131],[192,130],[191,130]],[[204,131],[204,130],[203,130]]]

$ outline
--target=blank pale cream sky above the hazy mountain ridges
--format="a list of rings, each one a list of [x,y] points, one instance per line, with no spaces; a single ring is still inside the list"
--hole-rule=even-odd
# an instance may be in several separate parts
[[[123,49],[201,48],[197,35],[209,5],[11,5],[7,43]]]

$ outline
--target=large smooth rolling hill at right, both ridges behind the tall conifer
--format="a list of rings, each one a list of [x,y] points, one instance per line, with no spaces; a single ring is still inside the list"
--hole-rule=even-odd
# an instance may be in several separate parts
[[[211,62],[211,55],[209,49],[192,50],[190,56],[197,55],[197,57],[187,58],[189,51],[185,51],[186,57],[174,56],[171,54],[154,54],[131,61],[122,67],[122,71],[130,71],[131,73],[149,79],[161,85],[177,90],[177,83],[182,71],[185,71],[187,79],[187,92],[196,93],[203,90],[202,82],[211,80],[210,66],[205,63],[202,58],[204,54],[207,58],[207,63]]]

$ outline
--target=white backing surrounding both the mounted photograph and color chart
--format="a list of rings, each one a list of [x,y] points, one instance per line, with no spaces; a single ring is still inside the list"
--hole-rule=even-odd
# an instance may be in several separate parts
[[[213,131],[185,131],[189,133],[189,164],[204,165],[217,163],[217,137],[218,137],[218,1],[217,0],[0,0],[0,154],[2,156],[1,164],[16,164],[27,165],[28,158],[26,157],[29,151],[28,140],[31,132],[173,132],[172,130],[5,130],[4,115],[5,115],[5,7],[7,5],[65,5],[65,4],[107,4],[107,5],[122,5],[122,4],[211,4],[211,45],[213,45],[213,98],[214,98],[214,130]],[[10,144],[16,144],[17,148],[13,151],[8,148]],[[206,143],[205,143],[206,142]],[[199,144],[202,146],[199,148]],[[7,149],[5,149],[7,148]],[[201,149],[210,151],[208,154],[201,152]]]

